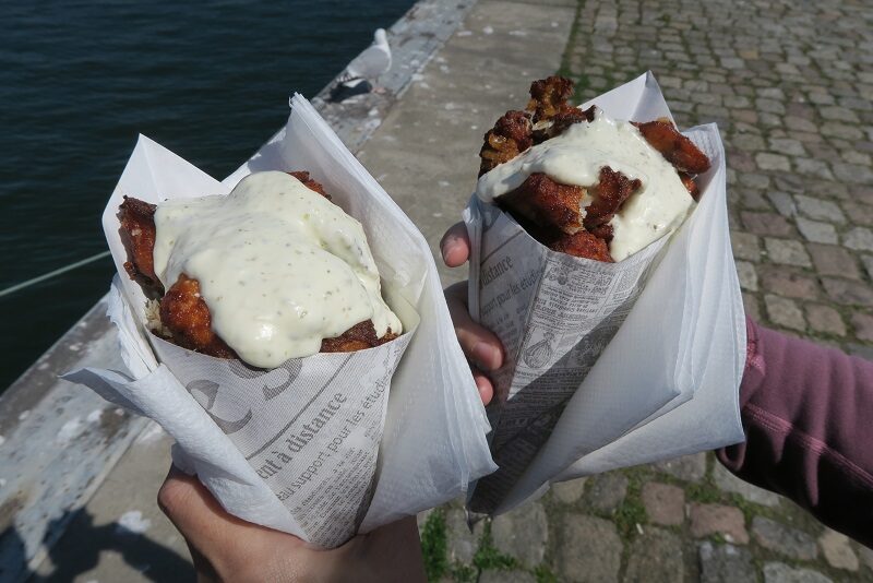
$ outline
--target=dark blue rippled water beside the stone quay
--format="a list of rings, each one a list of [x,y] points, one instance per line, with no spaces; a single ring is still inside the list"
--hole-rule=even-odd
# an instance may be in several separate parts
[[[106,249],[143,133],[220,179],[414,0],[0,0],[0,290]],[[109,258],[0,298],[0,392],[108,289]]]

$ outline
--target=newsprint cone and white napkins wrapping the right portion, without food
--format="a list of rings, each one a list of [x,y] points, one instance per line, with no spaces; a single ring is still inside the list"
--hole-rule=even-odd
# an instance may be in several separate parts
[[[650,73],[583,107],[590,104],[615,119],[670,117]],[[699,207],[672,238],[663,237],[619,263],[551,251],[497,206],[476,195],[470,199],[465,211],[473,243],[470,311],[494,331],[506,354],[492,376],[495,396],[488,407],[489,439],[499,468],[476,485],[471,511],[502,513],[545,491],[549,481],[590,473],[583,466],[567,468],[692,402],[706,371],[701,348],[721,352],[725,378],[709,390],[723,401],[707,409],[717,423],[683,437],[701,449],[742,439],[737,389],[744,328],[727,233],[723,150],[714,126],[686,134],[713,160],[699,179]],[[711,250],[716,260],[693,262],[687,249],[695,245]],[[670,261],[665,261],[668,255]],[[656,274],[657,285],[649,286]],[[721,285],[727,301],[707,301],[702,308],[694,287],[715,286],[714,282]],[[649,297],[641,306],[637,300],[644,293]],[[641,310],[650,313],[623,330],[629,317]],[[720,336],[711,330],[695,334],[718,310],[729,314]],[[620,330],[621,341],[613,341]],[[607,347],[611,355],[602,361]],[[591,379],[595,370],[598,374]],[[701,398],[696,405],[704,403]],[[695,415],[691,407],[685,414]],[[635,444],[633,454],[625,449],[621,460],[597,471],[650,461],[653,452],[655,459],[668,457],[677,449],[662,448],[659,441],[671,439],[665,431],[656,433],[648,449]]]

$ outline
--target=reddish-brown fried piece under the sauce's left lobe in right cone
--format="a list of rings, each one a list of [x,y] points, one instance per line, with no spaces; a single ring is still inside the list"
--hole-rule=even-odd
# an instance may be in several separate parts
[[[582,187],[561,185],[542,172],[534,172],[521,187],[498,198],[497,203],[513,216],[572,235],[582,229],[579,205],[584,195]]]

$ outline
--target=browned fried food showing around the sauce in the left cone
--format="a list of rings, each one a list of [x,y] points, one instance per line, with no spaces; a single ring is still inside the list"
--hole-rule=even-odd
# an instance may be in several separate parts
[[[331,200],[324,187],[312,179],[309,172],[288,174],[300,180],[308,189]],[[119,207],[121,240],[129,258],[124,269],[148,297],[159,298],[158,314],[162,325],[155,333],[190,350],[217,358],[238,358],[234,349],[213,331],[212,314],[206,301],[201,297],[200,282],[181,274],[166,294],[164,293],[160,281],[155,274],[153,258],[156,235],[155,210],[156,205],[130,197],[124,197],[124,202]],[[321,352],[362,350],[396,337],[397,334],[388,329],[381,338],[378,338],[372,320],[366,320],[339,336],[324,338]]]

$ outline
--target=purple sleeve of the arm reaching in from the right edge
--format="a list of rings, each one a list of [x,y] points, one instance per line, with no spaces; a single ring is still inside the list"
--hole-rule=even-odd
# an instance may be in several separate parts
[[[746,328],[745,442],[718,459],[873,547],[873,362],[752,320]]]

